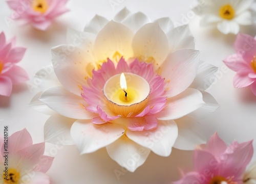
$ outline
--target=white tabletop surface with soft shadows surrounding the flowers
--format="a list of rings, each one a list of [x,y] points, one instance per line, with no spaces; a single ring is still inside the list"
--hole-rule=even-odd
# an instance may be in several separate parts
[[[222,62],[225,57],[234,52],[233,42],[236,36],[222,35],[214,28],[200,28],[199,18],[190,11],[190,8],[196,5],[195,0],[113,1],[119,3],[112,7],[109,0],[70,0],[67,6],[71,11],[58,17],[46,32],[35,30],[30,25],[20,27],[17,22],[6,24],[5,18],[11,14],[11,11],[5,1],[0,2],[0,32],[4,31],[8,39],[17,36],[17,45],[28,48],[19,65],[26,69],[30,77],[29,82],[14,87],[11,97],[0,96],[1,134],[4,125],[9,125],[10,134],[26,127],[34,143],[44,140],[43,126],[48,116],[28,107],[34,94],[39,91],[33,82],[34,74],[40,68],[50,65],[51,47],[66,43],[67,28],[82,31],[84,25],[95,14],[112,19],[126,6],[132,12],[145,13],[152,20],[166,16],[176,24],[185,24],[190,20],[196,48],[202,50],[201,60],[220,67],[218,79],[208,91],[215,96],[221,107],[214,114],[200,121],[203,134],[208,139],[213,133],[218,132],[227,144],[234,139],[243,142],[256,138],[256,97],[247,88],[233,88],[234,72],[227,69]],[[253,32],[253,30],[255,27],[246,27],[243,32],[255,36],[256,31]],[[253,145],[256,147],[256,141]],[[121,167],[110,159],[105,149],[79,155],[75,146],[48,145],[47,152],[52,156],[55,155],[48,175],[52,183],[56,184],[170,183],[179,179],[178,168],[191,167],[193,155],[191,151],[177,149],[173,149],[168,157],[151,153],[144,165],[134,173],[125,172],[118,178],[114,171],[122,172]],[[256,160],[255,154],[253,160]]]

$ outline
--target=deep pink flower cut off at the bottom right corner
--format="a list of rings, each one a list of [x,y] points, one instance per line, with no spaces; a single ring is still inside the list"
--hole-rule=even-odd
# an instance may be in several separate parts
[[[194,171],[183,175],[174,184],[242,184],[243,174],[253,154],[252,141],[229,146],[217,134],[206,145],[194,151]]]

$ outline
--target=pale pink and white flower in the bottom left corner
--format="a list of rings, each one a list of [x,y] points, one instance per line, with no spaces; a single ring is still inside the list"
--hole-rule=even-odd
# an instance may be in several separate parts
[[[51,167],[53,157],[44,155],[45,143],[33,144],[26,128],[8,139],[1,137],[0,146],[0,183],[50,184],[45,173]]]

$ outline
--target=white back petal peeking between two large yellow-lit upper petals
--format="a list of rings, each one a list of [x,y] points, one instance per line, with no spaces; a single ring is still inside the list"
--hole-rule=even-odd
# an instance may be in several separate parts
[[[144,13],[138,12],[128,15],[121,23],[126,25],[133,32],[137,32],[143,25],[149,22],[151,22],[150,18]]]

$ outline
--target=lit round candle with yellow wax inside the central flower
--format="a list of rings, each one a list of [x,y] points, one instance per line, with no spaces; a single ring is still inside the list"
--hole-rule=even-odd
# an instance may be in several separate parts
[[[150,85],[137,74],[121,73],[106,81],[103,93],[113,112],[129,117],[143,110],[150,94]]]

